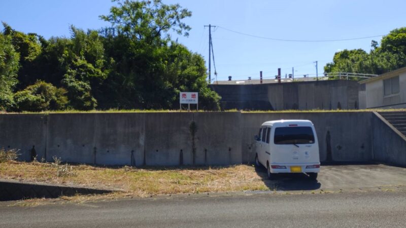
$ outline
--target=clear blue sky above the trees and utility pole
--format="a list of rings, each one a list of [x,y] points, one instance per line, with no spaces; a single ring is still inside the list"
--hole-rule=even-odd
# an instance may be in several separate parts
[[[387,34],[406,26],[406,1],[313,1],[313,0],[163,0],[165,4],[179,3],[192,11],[185,22],[192,27],[189,37],[173,35],[193,52],[208,61],[208,28],[212,30],[216,69],[219,80],[245,80],[274,77],[277,68],[282,75],[295,68],[296,77],[319,73],[332,61],[336,51],[362,48],[370,50],[370,41],[381,37],[342,42],[282,42],[258,39],[256,36],[285,40],[340,40]],[[109,0],[21,0],[1,1],[0,20],[23,32],[36,32],[49,38],[69,36],[69,25],[97,29],[108,25],[98,19],[108,14],[113,5]],[[212,63],[212,78],[214,67]]]

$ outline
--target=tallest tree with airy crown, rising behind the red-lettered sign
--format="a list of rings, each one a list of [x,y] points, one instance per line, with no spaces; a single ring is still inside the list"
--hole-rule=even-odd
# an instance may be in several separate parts
[[[182,20],[191,13],[161,1],[116,2],[110,15],[100,16],[112,23],[101,34],[106,55],[113,59],[102,89],[110,96],[97,97],[101,107],[177,108],[179,91],[189,90],[200,92],[202,108],[218,109],[219,97],[207,87],[204,60],[168,34],[174,30],[187,36],[190,27]]]

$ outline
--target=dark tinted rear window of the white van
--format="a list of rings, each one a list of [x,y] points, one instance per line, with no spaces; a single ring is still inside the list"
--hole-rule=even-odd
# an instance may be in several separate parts
[[[311,127],[275,128],[275,144],[311,144],[314,134]]]

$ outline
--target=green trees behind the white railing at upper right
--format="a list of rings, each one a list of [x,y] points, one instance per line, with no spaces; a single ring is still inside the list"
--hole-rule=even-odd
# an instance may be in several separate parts
[[[362,49],[336,52],[324,71],[382,74],[403,66],[406,66],[406,27],[383,36],[380,46],[372,41],[369,53]]]

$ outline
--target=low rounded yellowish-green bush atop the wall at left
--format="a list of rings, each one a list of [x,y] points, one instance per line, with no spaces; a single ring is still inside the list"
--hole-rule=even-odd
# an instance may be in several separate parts
[[[61,110],[67,105],[66,90],[38,81],[14,94],[17,111]]]

